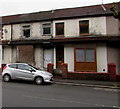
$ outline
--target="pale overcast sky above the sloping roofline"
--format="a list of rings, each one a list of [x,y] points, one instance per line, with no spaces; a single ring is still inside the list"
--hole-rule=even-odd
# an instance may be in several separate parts
[[[0,16],[31,13],[52,9],[72,8],[105,3],[119,2],[120,0],[1,0]]]

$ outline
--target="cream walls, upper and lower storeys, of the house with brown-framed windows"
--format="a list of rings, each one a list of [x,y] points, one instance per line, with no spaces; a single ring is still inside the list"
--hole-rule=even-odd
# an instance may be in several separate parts
[[[53,36],[55,37],[55,23],[64,22],[65,37],[79,36],[79,21],[89,20],[90,35],[106,35],[106,17],[82,18],[71,20],[53,21]],[[107,72],[107,48],[105,44],[99,44],[96,48],[97,72]],[[56,55],[56,50],[54,50]],[[68,71],[74,71],[74,47],[73,45],[64,45],[64,62],[68,63]],[[101,59],[102,57],[102,59]],[[56,66],[56,57],[54,57],[54,66]],[[56,68],[56,67],[55,67]]]

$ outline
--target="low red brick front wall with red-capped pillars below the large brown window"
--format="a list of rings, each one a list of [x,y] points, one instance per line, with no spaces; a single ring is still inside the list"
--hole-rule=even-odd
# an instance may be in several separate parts
[[[53,64],[49,64],[52,65]],[[102,81],[120,81],[120,75],[116,74],[116,66],[115,64],[109,64],[108,73],[100,73],[100,72],[68,72],[68,64],[62,63],[62,74],[57,76],[56,78],[66,78],[66,79],[78,79],[78,80],[102,80]],[[52,70],[53,71],[53,70]]]

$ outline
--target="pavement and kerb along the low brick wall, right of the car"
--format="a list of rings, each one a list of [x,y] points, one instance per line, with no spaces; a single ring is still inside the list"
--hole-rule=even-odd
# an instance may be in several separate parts
[[[0,80],[2,80],[1,75],[0,75]],[[120,82],[112,82],[112,81],[72,80],[72,79],[55,78],[53,83],[59,85],[120,89]]]

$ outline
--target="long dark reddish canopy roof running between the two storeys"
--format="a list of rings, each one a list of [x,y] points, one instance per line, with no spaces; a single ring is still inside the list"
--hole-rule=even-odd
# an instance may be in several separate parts
[[[84,37],[63,37],[50,39],[34,40],[11,40],[8,45],[51,45],[51,44],[70,44],[79,42],[115,42],[120,43],[120,36],[84,36]]]

